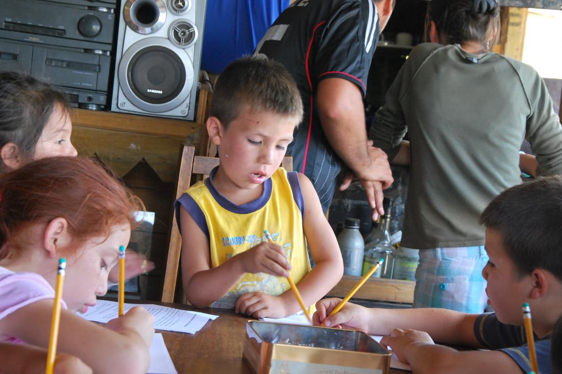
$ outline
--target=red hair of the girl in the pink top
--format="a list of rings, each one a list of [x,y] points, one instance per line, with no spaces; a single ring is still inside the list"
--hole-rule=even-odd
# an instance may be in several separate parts
[[[25,248],[25,229],[65,218],[72,238],[63,252],[73,254],[116,225],[138,224],[142,201],[93,160],[46,157],[0,175],[0,259]]]

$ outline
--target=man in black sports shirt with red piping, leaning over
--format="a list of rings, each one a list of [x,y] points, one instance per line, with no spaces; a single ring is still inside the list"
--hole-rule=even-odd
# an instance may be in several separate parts
[[[324,211],[343,162],[364,186],[374,217],[383,213],[382,189],[392,183],[392,172],[386,154],[367,143],[362,97],[394,1],[297,0],[256,47],[297,82],[305,114],[287,154],[294,170],[311,179]]]

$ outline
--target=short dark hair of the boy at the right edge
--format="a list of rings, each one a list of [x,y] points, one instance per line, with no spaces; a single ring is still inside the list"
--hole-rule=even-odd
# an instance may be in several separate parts
[[[480,222],[500,232],[519,276],[540,268],[562,281],[562,176],[503,191],[484,209]]]

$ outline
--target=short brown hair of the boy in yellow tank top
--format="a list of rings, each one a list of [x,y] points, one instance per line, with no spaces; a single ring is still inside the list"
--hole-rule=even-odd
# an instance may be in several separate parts
[[[244,56],[221,72],[212,97],[210,115],[227,127],[244,107],[252,111],[302,117],[302,99],[291,74],[264,55]]]

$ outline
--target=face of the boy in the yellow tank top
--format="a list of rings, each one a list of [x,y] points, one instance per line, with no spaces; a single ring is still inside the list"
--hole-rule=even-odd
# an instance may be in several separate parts
[[[253,189],[277,170],[298,118],[243,110],[221,134],[220,169],[228,184]],[[225,155],[228,155],[226,157]]]

